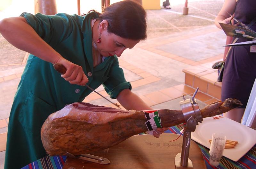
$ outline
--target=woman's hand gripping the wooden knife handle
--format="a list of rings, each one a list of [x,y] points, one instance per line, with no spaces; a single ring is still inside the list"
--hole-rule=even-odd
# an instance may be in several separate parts
[[[76,65],[64,58],[59,59],[56,63],[60,63],[66,67],[67,71],[65,74],[62,74],[61,77],[63,77],[70,84],[84,86],[88,82],[88,78],[84,74],[81,66]]]

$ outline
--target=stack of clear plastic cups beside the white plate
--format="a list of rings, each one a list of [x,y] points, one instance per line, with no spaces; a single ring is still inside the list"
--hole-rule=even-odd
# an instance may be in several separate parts
[[[222,133],[212,134],[212,143],[210,147],[210,165],[218,166],[222,157],[226,143],[226,136]]]

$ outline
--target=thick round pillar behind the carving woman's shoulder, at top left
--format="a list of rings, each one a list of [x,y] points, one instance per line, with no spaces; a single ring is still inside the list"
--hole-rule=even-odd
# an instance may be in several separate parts
[[[56,1],[35,0],[35,13],[39,12],[45,15],[55,15],[57,13]]]

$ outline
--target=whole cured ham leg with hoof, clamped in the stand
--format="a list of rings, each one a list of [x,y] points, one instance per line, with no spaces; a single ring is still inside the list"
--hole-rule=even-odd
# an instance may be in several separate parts
[[[214,102],[201,109],[202,117],[225,113],[241,106],[236,99]],[[181,110],[158,110],[162,127],[184,123]],[[76,102],[51,114],[41,129],[46,152],[53,155],[74,155],[112,147],[133,135],[148,130],[145,113]]]

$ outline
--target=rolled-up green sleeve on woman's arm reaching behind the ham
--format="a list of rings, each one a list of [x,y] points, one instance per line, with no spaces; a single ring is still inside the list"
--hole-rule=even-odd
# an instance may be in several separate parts
[[[103,87],[112,99],[116,99],[117,95],[124,89],[129,88],[132,90],[132,85],[130,82],[125,80],[124,71],[119,67],[116,56],[109,71],[109,78],[103,83]]]

